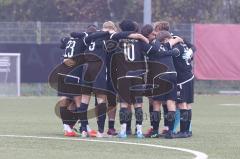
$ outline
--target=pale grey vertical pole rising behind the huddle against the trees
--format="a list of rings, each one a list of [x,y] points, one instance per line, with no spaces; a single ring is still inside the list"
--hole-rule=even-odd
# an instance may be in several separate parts
[[[152,0],[144,0],[143,24],[152,23]]]

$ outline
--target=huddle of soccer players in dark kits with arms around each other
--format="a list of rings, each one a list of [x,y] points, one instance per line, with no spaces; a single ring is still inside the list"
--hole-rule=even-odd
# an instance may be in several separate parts
[[[73,32],[61,39],[64,60],[61,68],[55,70],[55,77],[65,136],[77,136],[76,131],[81,137],[192,136],[195,47],[169,29],[166,21],[142,28],[132,20],[123,20],[118,26],[107,21],[100,30],[90,25],[86,32]],[[91,97],[95,98],[95,109],[89,111]],[[148,105],[143,105],[143,97],[148,99]],[[115,129],[117,105],[119,132]],[[149,107],[151,123],[146,133],[142,130],[143,107]],[[161,110],[164,128],[160,132]],[[97,131],[89,126],[92,117],[97,118]],[[79,130],[74,129],[76,124]]]

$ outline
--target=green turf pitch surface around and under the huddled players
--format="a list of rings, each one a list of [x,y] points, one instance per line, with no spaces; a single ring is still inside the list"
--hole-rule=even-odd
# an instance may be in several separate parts
[[[3,136],[64,138],[61,121],[54,114],[57,100],[57,97],[0,98],[0,159],[194,158],[193,154],[187,152],[157,147]],[[147,104],[145,104],[144,110],[147,113]],[[90,126],[96,129],[96,119],[90,120]],[[145,117],[144,131],[148,127],[149,118]],[[119,128],[118,119],[116,128]],[[203,152],[209,156],[209,159],[237,159],[240,158],[240,96],[197,95],[193,104],[192,129],[193,137],[188,139],[141,140],[130,137],[123,140],[117,138],[100,140],[179,147]]]

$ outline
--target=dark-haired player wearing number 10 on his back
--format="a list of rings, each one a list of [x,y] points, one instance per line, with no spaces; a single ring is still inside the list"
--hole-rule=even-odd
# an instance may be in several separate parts
[[[122,31],[134,31],[135,24],[131,20],[124,20],[119,24]],[[146,74],[146,54],[161,54],[157,47],[153,47],[150,44],[144,43],[139,40],[120,40],[123,46],[123,51],[118,56],[118,91],[120,98],[120,124],[121,130],[119,132],[120,138],[126,138],[126,126],[130,119],[129,106],[134,105],[135,117],[136,117],[136,136],[143,138],[142,133],[142,96],[143,92],[134,92],[134,86],[144,85]],[[133,90],[131,90],[133,89]]]

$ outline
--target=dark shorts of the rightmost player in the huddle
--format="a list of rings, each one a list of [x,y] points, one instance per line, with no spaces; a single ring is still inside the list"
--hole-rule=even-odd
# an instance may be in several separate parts
[[[193,103],[194,102],[194,80],[188,81],[177,86],[177,103]]]

